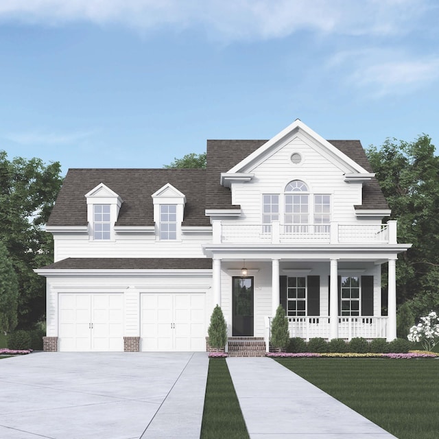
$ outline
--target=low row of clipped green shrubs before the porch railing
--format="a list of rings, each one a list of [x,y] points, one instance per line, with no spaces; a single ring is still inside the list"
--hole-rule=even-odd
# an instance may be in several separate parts
[[[287,346],[287,352],[291,353],[407,353],[410,349],[413,349],[413,343],[404,338],[396,338],[392,342],[387,342],[385,338],[375,338],[371,342],[363,337],[355,337],[350,342],[335,338],[327,342],[316,337],[305,342],[300,337],[294,337],[289,339]]]

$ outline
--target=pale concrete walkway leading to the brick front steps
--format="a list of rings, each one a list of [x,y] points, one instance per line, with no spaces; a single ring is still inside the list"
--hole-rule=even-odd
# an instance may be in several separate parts
[[[395,438],[273,359],[227,365],[251,439]]]

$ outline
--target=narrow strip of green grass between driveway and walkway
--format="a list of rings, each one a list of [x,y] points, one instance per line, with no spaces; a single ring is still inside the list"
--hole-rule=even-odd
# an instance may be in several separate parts
[[[248,439],[226,359],[209,360],[200,439]]]

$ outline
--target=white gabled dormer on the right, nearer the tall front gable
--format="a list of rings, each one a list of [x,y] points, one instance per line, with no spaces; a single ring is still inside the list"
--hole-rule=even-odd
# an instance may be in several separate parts
[[[186,195],[167,183],[152,195],[158,241],[181,241]]]

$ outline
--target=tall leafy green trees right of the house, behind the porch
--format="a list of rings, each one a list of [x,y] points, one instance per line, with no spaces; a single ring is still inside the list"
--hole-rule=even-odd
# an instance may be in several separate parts
[[[399,302],[410,301],[414,316],[439,309],[439,157],[423,134],[413,142],[387,139],[367,155],[398,220],[399,242],[413,243],[399,255]]]

